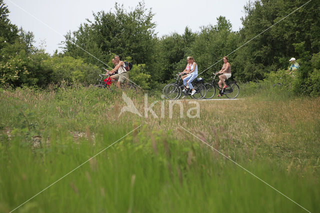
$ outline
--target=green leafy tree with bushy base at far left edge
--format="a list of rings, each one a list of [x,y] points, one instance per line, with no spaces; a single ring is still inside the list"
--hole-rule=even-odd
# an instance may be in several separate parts
[[[52,68],[43,61],[49,55],[33,48],[33,33],[18,30],[7,18],[8,13],[0,0],[0,84],[45,86],[50,82]]]

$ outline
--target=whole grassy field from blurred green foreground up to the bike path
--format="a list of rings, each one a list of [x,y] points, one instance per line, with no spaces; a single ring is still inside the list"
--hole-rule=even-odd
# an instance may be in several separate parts
[[[144,93],[127,95],[144,115]],[[319,97],[242,84],[242,100],[198,101],[194,118],[185,100],[170,118],[159,96],[155,118],[118,116],[105,89],[0,89],[0,212],[74,168],[14,212],[320,211]]]

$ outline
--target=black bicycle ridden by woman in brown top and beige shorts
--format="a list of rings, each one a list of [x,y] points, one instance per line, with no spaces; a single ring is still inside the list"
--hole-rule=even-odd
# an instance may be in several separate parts
[[[215,72],[214,76],[211,78],[212,81],[211,83],[204,83],[204,86],[206,88],[206,95],[205,95],[205,99],[211,99],[214,95],[215,95],[215,88],[219,89],[219,94],[225,94],[225,96],[227,96],[228,98],[236,98],[239,94],[239,86],[238,84],[236,84],[235,80],[225,80],[225,84],[228,86],[226,88],[222,88],[218,85],[218,81],[215,80],[215,76],[218,74],[219,72]]]

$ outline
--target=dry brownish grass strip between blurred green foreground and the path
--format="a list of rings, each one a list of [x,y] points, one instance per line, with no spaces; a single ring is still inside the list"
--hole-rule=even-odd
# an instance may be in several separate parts
[[[136,123],[146,124],[150,132],[153,129],[172,130],[179,140],[199,142],[182,130],[181,125],[233,159],[278,159],[287,164],[293,162],[293,167],[318,169],[320,98],[275,101],[247,97],[244,100],[170,102],[148,96],[147,106],[157,101],[152,110],[158,117],[150,112],[144,117],[144,94],[128,95],[142,117],[130,112],[118,116],[125,105],[120,92],[83,87],[48,91],[2,90],[1,111],[5,115],[1,123],[12,130],[21,126],[21,112],[32,112],[27,119],[37,123],[37,134],[55,126],[63,126],[71,132],[94,134],[98,126],[108,126],[112,130],[115,125],[125,127],[128,123]],[[199,117],[187,117],[187,111],[196,106],[192,101],[198,102]],[[172,117],[170,104],[173,104]],[[182,114],[180,106],[183,107]],[[191,110],[191,115],[195,113],[195,109]]]

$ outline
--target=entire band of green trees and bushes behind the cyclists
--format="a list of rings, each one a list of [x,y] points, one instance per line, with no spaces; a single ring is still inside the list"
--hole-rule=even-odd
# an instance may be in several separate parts
[[[113,67],[114,54],[130,58],[134,64],[130,78],[145,89],[172,81],[175,73],[185,68],[187,56],[194,57],[205,79],[221,68],[221,59],[227,55],[236,80],[274,81],[282,76],[288,59],[295,57],[300,69],[294,79],[287,79],[289,87],[296,94],[317,95],[320,9],[316,1],[300,8],[304,3],[253,0],[244,6],[239,31],[232,31],[227,17],[219,16],[216,24],[203,25],[199,31],[186,26],[182,34],[159,38],[154,31],[154,13],[143,1],[129,11],[115,3],[112,10],[93,13],[93,21],[87,19],[68,32],[62,41],[64,52],[50,56],[33,46],[32,32],[10,23],[9,10],[0,0],[0,84],[94,83],[102,63]]]

